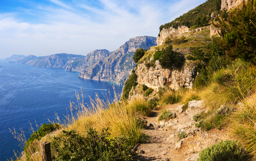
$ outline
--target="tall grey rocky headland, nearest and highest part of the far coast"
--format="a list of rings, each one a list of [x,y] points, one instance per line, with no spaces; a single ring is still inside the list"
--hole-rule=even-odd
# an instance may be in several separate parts
[[[149,49],[156,45],[156,37],[142,36],[131,38],[119,49],[110,52],[109,56],[81,71],[78,77],[105,80],[124,84],[129,72],[135,68],[133,55],[136,49]]]

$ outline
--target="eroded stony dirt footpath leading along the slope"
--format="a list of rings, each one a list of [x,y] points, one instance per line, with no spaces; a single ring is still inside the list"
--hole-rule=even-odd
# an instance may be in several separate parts
[[[147,128],[145,133],[150,141],[137,148],[137,161],[196,161],[202,149],[216,144],[220,140],[230,139],[227,130],[201,131],[195,127],[196,121],[192,116],[201,112],[201,102],[189,104],[188,110],[183,112],[182,105],[167,105],[165,108],[176,113],[176,118],[167,122],[158,121],[161,111],[153,111],[151,117],[145,117]],[[177,134],[185,131],[187,138],[178,139]]]

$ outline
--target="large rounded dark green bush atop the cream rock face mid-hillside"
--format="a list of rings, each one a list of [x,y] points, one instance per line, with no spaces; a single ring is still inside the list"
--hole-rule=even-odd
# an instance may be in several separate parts
[[[162,68],[180,68],[185,61],[184,55],[173,51],[173,45],[169,45],[162,50],[162,55],[159,58],[159,63]]]

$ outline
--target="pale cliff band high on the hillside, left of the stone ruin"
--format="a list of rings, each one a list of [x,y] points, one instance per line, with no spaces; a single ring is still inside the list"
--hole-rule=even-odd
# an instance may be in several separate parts
[[[173,37],[176,37],[176,36],[181,36],[182,34],[184,33],[190,33],[191,30],[189,30],[188,27],[186,26],[181,26],[181,27],[178,27],[177,29],[175,28],[168,28],[168,29],[162,29],[162,31],[159,33],[160,36],[157,36],[156,38],[156,43],[157,45],[162,45],[165,41],[165,39],[169,36],[169,35],[172,35]],[[190,34],[184,34],[184,36],[189,36]]]

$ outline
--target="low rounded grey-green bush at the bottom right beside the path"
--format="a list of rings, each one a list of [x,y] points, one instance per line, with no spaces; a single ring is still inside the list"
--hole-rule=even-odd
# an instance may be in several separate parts
[[[247,161],[251,159],[252,155],[244,151],[237,141],[221,140],[203,149],[197,161]]]

